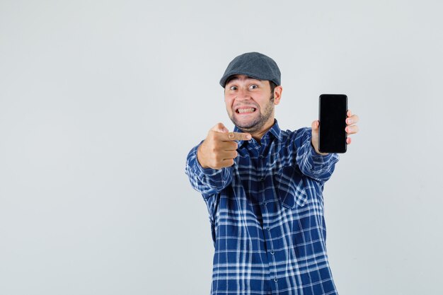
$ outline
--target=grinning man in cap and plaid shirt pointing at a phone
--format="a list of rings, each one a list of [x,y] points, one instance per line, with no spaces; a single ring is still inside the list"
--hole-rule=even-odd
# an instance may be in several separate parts
[[[209,211],[212,294],[338,294],[322,195],[338,156],[318,151],[318,121],[294,132],[278,127],[282,86],[270,57],[241,54],[220,84],[234,132],[212,127],[185,169]],[[355,134],[358,117],[347,115],[346,132]]]

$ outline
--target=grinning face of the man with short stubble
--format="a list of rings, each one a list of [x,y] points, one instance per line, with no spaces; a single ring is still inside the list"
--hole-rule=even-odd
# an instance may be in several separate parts
[[[274,123],[274,105],[269,81],[236,75],[224,88],[224,102],[231,121],[244,132],[260,132]]]

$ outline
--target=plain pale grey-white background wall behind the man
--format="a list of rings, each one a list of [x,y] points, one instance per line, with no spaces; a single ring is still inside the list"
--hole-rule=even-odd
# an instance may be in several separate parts
[[[326,184],[342,295],[442,294],[440,1],[0,1],[0,294],[209,294],[188,151],[218,81],[269,55],[282,129],[346,93],[360,132]]]

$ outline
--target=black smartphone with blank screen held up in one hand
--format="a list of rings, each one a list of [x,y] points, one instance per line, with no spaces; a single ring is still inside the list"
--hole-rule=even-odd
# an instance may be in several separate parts
[[[322,94],[318,102],[318,151],[321,153],[346,152],[347,96]]]

